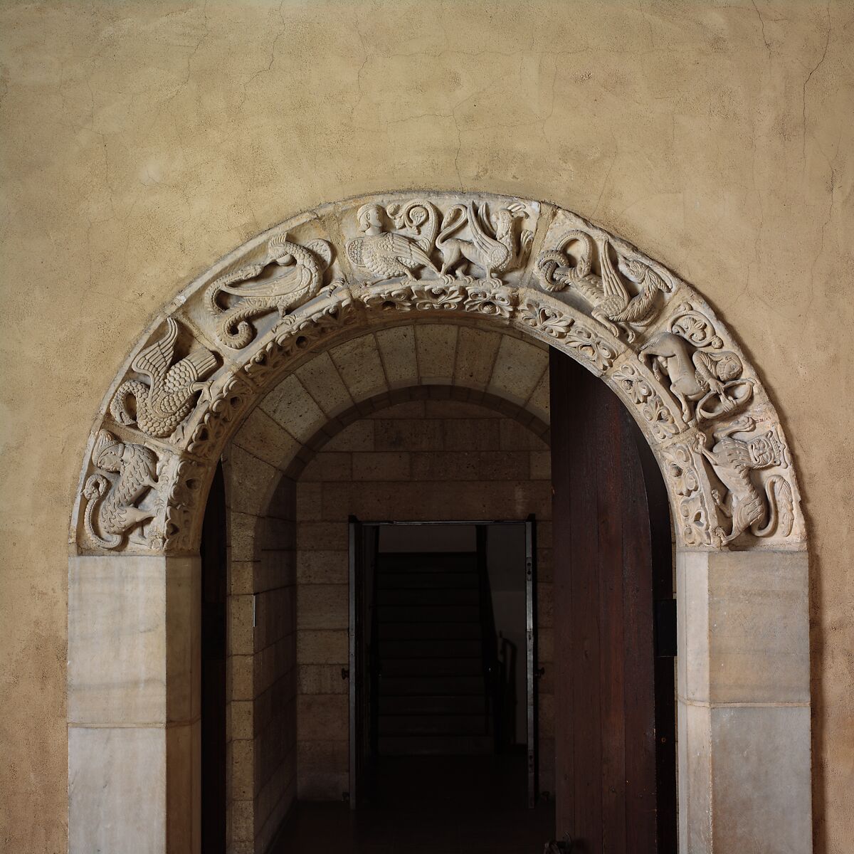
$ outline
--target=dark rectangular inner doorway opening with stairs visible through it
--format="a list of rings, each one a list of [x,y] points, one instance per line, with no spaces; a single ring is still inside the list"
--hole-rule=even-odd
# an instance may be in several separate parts
[[[412,781],[445,775],[532,806],[533,519],[353,519],[350,542],[351,805],[436,801]]]

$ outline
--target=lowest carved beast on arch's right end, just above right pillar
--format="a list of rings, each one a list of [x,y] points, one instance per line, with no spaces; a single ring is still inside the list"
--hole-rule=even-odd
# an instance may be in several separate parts
[[[749,415],[714,431],[715,444],[711,450],[705,447],[705,435],[699,435],[699,451],[711,463],[712,469],[728,493],[722,499],[717,490],[712,498],[718,509],[732,519],[727,533],[718,528],[716,533],[722,543],[733,541],[748,528],[754,536],[769,536],[777,533],[788,536],[794,522],[792,488],[785,477],[773,475],[760,492],[751,479],[751,471],[767,469],[772,465],[787,467],[785,450],[781,442],[769,430],[762,436],[749,440],[734,439],[735,433],[746,433],[756,427]]]

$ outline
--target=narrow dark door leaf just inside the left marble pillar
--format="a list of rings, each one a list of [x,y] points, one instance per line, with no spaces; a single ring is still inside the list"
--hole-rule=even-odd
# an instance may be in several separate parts
[[[213,476],[202,526],[202,851],[225,854],[225,481]]]

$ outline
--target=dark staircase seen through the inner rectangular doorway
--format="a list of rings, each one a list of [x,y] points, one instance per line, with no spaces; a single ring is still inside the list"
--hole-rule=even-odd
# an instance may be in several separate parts
[[[493,752],[477,555],[379,554],[375,583],[380,756]]]

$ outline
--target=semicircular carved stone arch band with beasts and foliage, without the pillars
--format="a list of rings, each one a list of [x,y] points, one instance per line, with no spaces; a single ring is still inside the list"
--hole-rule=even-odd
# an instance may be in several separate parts
[[[515,330],[600,376],[656,453],[682,547],[804,547],[780,420],[693,288],[553,205],[429,191],[302,213],[184,289],[104,399],[73,547],[195,551],[215,460],[263,395],[349,337],[422,320]]]

